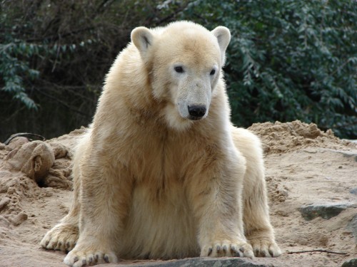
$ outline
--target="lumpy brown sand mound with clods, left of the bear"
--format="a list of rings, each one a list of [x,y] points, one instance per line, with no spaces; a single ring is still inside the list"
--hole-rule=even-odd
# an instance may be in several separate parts
[[[76,130],[59,140],[73,147],[83,132]],[[9,145],[0,144],[0,226],[19,226],[26,221],[24,202],[50,197],[51,189],[71,190],[72,153],[63,143],[16,137]]]

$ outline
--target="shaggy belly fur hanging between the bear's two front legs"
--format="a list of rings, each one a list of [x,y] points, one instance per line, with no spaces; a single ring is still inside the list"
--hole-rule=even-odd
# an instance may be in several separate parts
[[[129,253],[129,258],[198,256],[196,231],[182,187],[154,192],[151,187],[139,184],[133,191],[121,255]]]

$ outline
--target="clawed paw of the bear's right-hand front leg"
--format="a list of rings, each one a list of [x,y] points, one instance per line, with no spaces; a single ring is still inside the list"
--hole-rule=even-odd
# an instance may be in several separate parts
[[[215,241],[201,249],[201,257],[248,257],[253,258],[253,249],[245,241]]]

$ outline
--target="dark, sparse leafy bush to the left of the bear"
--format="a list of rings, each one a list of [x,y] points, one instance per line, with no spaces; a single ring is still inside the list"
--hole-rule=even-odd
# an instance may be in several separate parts
[[[88,125],[132,28],[168,23],[183,4],[1,1],[0,141],[14,132],[49,138]]]

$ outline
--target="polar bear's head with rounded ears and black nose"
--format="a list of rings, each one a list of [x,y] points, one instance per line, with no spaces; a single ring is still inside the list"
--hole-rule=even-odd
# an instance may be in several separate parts
[[[188,21],[131,32],[170,127],[183,130],[207,117],[230,39],[228,28],[208,31]]]

